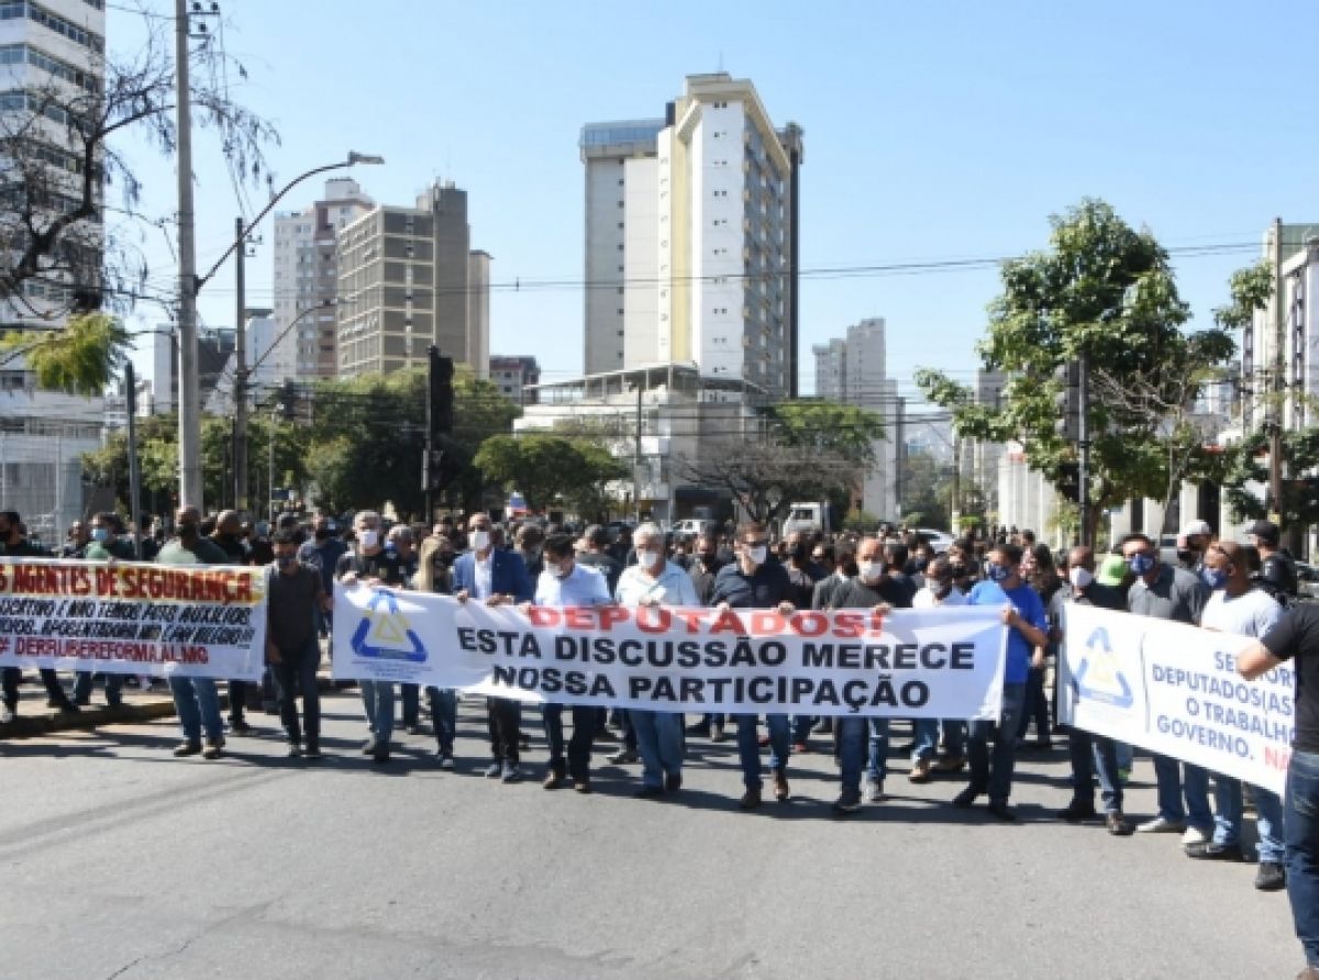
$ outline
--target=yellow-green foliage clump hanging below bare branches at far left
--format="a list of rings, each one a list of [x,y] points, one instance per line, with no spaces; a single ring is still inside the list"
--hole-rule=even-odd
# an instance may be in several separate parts
[[[103,313],[70,317],[59,330],[13,330],[0,335],[0,365],[20,357],[37,386],[69,394],[100,394],[128,357],[124,326]]]

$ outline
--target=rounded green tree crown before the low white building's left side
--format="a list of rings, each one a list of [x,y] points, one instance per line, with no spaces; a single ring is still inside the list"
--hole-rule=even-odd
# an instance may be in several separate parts
[[[562,501],[579,513],[595,513],[605,499],[605,484],[632,472],[600,443],[547,433],[492,435],[474,463],[503,489],[518,491],[532,510]]]

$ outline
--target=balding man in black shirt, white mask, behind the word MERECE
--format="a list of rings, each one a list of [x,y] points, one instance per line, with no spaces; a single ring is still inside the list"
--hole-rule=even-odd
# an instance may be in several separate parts
[[[911,596],[886,567],[884,545],[878,538],[861,538],[856,549],[856,578],[842,583],[830,599],[831,609],[905,609]],[[888,773],[889,719],[842,715],[835,720],[839,741],[842,790],[834,812],[849,814],[861,809],[861,762],[867,756],[867,797],[872,803],[884,799],[884,777]]]

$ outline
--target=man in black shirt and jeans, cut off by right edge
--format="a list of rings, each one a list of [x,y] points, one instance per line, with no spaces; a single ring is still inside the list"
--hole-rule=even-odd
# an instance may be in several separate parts
[[[1261,641],[1237,656],[1237,671],[1256,681],[1294,663],[1295,728],[1287,764],[1287,898],[1306,968],[1297,980],[1319,980],[1319,605],[1291,609]]]

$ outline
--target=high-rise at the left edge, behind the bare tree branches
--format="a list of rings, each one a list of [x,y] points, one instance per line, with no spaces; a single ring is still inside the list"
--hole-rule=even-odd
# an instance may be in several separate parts
[[[71,123],[46,104],[45,92],[96,92],[104,87],[106,11],[100,0],[0,3],[0,112],[5,133],[33,148],[22,166],[0,158],[12,200],[32,203],[37,220],[77,204],[82,146]],[[49,121],[47,121],[49,120]],[[36,136],[37,138],[33,138]],[[13,144],[9,144],[13,145]],[[100,189],[94,189],[100,199]],[[49,214],[44,208],[49,207]],[[21,248],[29,232],[20,208],[0,216],[0,249]],[[103,231],[99,218],[78,222],[59,239],[57,268],[32,277],[17,294],[0,298],[0,334],[57,330],[75,307],[100,299]],[[102,398],[73,397],[37,388],[20,357],[0,367],[0,509],[17,510],[29,530],[58,543],[82,516],[82,454],[100,444]]]

